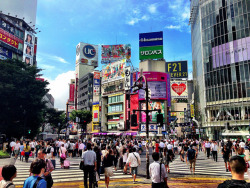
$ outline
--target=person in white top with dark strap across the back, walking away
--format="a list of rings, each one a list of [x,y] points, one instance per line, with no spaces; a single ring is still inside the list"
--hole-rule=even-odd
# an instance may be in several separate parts
[[[136,153],[136,149],[133,148],[133,152],[128,155],[128,159],[126,162],[126,169],[128,164],[130,163],[132,176],[133,176],[133,183],[135,183],[136,175],[137,175],[137,169],[138,166],[141,165],[141,158],[138,153]]]

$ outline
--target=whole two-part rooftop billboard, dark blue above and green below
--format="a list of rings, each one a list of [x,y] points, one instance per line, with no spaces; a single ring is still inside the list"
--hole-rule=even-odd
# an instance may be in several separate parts
[[[139,59],[163,59],[163,32],[139,34]]]

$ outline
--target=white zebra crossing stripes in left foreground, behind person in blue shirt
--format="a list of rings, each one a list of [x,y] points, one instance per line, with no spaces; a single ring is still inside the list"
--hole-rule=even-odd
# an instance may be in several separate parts
[[[32,159],[30,159],[31,161]],[[74,159],[73,159],[74,160]],[[83,171],[79,169],[80,161],[71,161],[69,169],[61,169],[59,160],[56,160],[56,169],[52,172],[54,183],[69,182],[69,181],[83,181]],[[26,178],[29,177],[30,162],[25,163],[19,160],[16,161],[15,166],[17,168],[17,177],[14,178],[13,182],[15,185],[23,185]],[[113,170],[114,175],[111,179],[128,179],[132,180],[131,175],[123,174],[123,171],[117,167],[117,171]],[[101,174],[101,180],[104,180],[104,174]]]

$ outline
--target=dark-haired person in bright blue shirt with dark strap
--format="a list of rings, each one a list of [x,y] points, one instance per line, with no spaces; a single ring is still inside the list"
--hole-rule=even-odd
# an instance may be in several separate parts
[[[33,188],[36,184],[37,188],[47,188],[47,182],[41,178],[44,174],[46,163],[43,159],[35,159],[30,165],[30,173],[33,176],[28,177],[23,185],[23,188]]]

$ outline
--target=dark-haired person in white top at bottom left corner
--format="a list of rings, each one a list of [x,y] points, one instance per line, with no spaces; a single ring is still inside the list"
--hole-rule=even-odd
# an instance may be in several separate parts
[[[12,180],[16,177],[17,171],[14,165],[5,165],[2,168],[3,180],[0,182],[1,188],[15,188]]]

